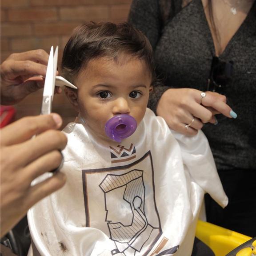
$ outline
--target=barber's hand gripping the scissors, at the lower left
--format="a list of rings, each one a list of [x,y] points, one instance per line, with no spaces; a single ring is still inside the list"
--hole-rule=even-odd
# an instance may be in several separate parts
[[[56,131],[61,124],[61,117],[51,114],[25,117],[1,129],[1,237],[36,202],[65,184],[65,175],[56,172],[31,186],[32,180],[58,168],[62,161],[60,150],[65,148],[67,138]]]

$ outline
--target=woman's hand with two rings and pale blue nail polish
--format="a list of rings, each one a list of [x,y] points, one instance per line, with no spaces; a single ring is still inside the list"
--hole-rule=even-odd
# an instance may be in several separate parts
[[[214,124],[216,114],[232,118],[232,109],[226,104],[224,95],[217,92],[205,93],[206,96],[202,98],[201,91],[196,89],[170,88],[161,96],[156,113],[165,119],[172,130],[186,135],[196,135],[204,123]],[[187,124],[190,124],[188,128]]]

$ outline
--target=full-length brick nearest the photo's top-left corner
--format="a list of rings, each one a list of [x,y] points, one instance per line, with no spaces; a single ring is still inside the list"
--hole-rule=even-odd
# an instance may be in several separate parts
[[[57,20],[55,8],[9,9],[10,21]]]

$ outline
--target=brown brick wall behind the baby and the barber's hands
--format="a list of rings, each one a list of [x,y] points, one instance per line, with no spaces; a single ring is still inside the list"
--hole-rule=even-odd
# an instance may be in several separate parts
[[[77,25],[88,21],[125,21],[132,0],[1,0],[1,62],[12,52],[59,45],[59,59]],[[60,61],[60,60],[59,60]],[[40,113],[42,92],[16,105],[17,118]],[[53,111],[64,124],[75,112],[63,95],[57,95]]]

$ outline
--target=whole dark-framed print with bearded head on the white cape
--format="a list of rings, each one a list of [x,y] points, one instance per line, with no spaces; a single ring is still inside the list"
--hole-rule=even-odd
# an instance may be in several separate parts
[[[150,151],[132,164],[82,170],[82,176],[86,227],[109,237],[112,255],[146,256],[163,247]]]

